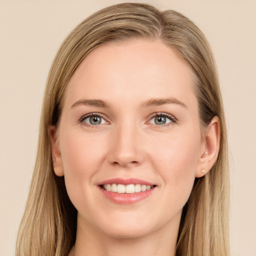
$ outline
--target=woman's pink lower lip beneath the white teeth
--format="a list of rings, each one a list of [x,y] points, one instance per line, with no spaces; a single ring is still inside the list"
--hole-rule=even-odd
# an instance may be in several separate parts
[[[147,198],[155,189],[155,187],[150,188],[146,191],[141,191],[137,193],[117,193],[117,192],[111,192],[107,191],[99,186],[99,189],[102,191],[104,196],[108,198],[109,200],[120,203],[120,204],[131,204],[135,203],[137,201],[141,201],[145,198]]]

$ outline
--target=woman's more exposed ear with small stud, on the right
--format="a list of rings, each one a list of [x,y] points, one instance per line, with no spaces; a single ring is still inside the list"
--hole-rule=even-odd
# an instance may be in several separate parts
[[[219,118],[214,116],[204,130],[195,177],[203,176],[214,165],[218,157],[219,141],[220,123]]]

